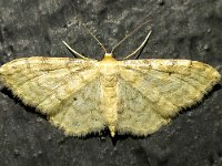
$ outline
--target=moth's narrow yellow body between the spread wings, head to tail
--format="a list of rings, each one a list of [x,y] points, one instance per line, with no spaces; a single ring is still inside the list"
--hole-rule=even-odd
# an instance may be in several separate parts
[[[118,124],[118,77],[119,61],[111,54],[105,54],[104,59],[98,63],[101,82],[101,103],[103,105],[104,118],[107,120],[111,135],[114,136]]]

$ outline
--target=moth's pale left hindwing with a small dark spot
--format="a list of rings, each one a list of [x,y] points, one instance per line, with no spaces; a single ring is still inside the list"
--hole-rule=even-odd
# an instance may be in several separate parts
[[[59,112],[50,116],[50,122],[62,127],[67,135],[98,133],[105,126],[100,96],[100,80],[95,79],[62,102]]]

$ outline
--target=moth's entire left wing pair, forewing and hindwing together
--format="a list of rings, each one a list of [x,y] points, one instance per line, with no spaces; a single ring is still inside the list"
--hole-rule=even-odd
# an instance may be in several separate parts
[[[0,80],[68,135],[80,136],[104,127],[95,63],[69,58],[18,59],[0,68]]]

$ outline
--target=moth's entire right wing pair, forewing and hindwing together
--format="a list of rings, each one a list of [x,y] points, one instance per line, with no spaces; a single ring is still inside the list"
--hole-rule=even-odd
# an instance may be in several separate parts
[[[148,135],[220,80],[210,65],[189,60],[129,60],[120,66],[119,133]]]

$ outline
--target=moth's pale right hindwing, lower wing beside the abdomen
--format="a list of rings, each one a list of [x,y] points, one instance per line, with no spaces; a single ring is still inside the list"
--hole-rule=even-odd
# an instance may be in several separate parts
[[[170,120],[155,112],[152,103],[143,93],[124,79],[120,79],[118,87],[118,126],[119,134],[130,133],[143,136],[155,132]]]

